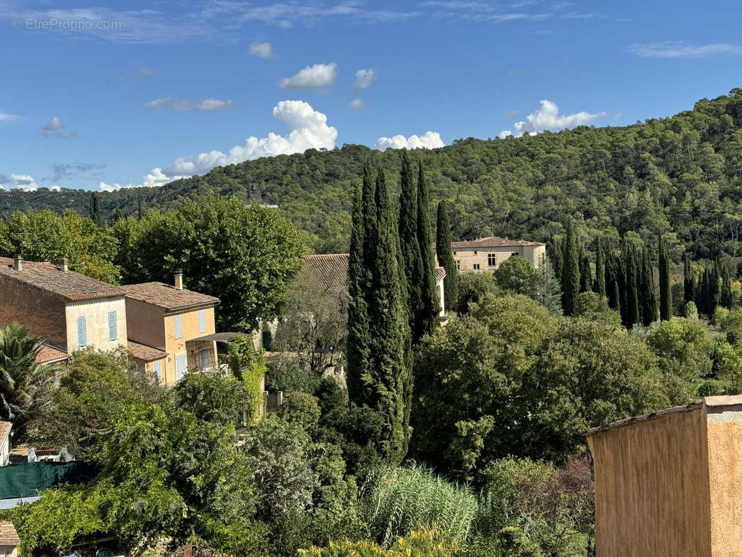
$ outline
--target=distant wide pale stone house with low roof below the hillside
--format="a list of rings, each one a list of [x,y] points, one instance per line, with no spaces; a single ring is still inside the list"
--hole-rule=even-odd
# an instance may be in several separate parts
[[[527,240],[510,240],[490,236],[471,241],[451,242],[453,258],[460,271],[489,271],[493,273],[502,261],[517,256],[539,267],[546,255],[546,244]]]

